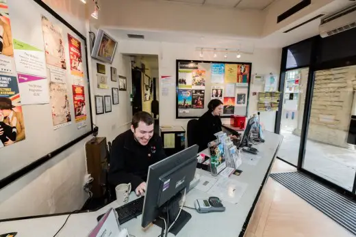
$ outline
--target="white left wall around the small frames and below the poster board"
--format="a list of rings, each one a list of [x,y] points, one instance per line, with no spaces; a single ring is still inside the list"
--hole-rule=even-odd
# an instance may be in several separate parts
[[[88,23],[84,18],[85,5],[80,1],[55,1],[47,0],[53,10],[71,23],[84,36],[87,36]],[[18,5],[20,6],[20,5]],[[89,63],[91,100],[94,103],[94,94],[111,95],[111,87],[117,85],[110,82],[110,89],[95,88],[97,79],[96,64]],[[99,126],[99,136],[107,137],[111,141],[119,133],[127,130],[127,122],[131,120],[131,106],[129,93],[131,93],[131,67],[129,57],[116,53],[113,66],[118,69],[118,74],[127,76],[127,92],[120,92],[120,104],[112,105],[112,113],[93,115],[93,122]],[[110,75],[110,67],[107,66]],[[94,106],[92,106],[94,111]],[[51,214],[69,212],[80,209],[88,195],[83,191],[84,176],[86,175],[86,155],[84,145],[90,137],[73,145],[51,161],[44,163],[6,186],[0,191],[0,219],[24,217],[37,214]],[[38,144],[43,145],[43,144]],[[33,148],[36,149],[36,148]]]

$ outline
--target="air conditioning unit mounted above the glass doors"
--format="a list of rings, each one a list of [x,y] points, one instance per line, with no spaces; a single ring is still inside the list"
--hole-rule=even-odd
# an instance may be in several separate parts
[[[324,16],[319,25],[319,33],[322,38],[325,38],[355,27],[356,4]]]

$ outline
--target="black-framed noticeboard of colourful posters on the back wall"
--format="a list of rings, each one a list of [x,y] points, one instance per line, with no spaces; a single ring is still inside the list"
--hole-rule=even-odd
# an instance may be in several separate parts
[[[248,115],[252,64],[229,61],[176,61],[176,118],[197,118],[212,99],[221,100],[221,117]]]

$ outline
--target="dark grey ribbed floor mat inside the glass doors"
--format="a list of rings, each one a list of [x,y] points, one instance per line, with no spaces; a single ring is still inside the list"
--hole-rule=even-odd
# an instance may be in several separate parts
[[[270,177],[356,236],[355,202],[307,178],[301,172],[271,173]]]

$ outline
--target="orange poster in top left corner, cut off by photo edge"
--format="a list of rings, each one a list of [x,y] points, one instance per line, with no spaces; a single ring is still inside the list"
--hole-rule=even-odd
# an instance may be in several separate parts
[[[8,1],[0,1],[0,72],[14,73],[14,49]]]

